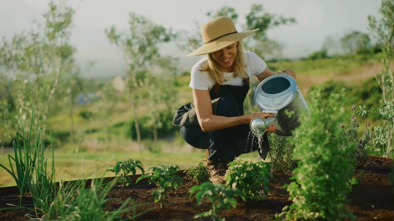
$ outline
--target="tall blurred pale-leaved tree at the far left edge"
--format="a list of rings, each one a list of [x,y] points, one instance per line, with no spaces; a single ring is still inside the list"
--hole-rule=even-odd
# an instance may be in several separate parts
[[[45,25],[39,24],[29,32],[15,34],[11,41],[3,38],[0,44],[0,66],[16,75],[13,87],[13,100],[17,113],[21,114],[24,129],[29,130],[33,101],[35,103],[32,131],[43,128],[45,134],[46,118],[51,100],[59,83],[61,69],[72,63],[75,49],[70,46],[72,17],[74,9],[67,2],[50,1],[49,10],[43,15]],[[18,120],[18,116],[15,116]]]

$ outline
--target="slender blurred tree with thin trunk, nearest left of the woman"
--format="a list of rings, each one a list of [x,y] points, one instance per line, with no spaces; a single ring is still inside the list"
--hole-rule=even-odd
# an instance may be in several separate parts
[[[142,80],[136,77],[138,71],[147,69],[153,61],[160,58],[159,44],[171,41],[174,35],[171,30],[154,24],[149,18],[136,13],[129,13],[129,28],[119,32],[115,26],[105,29],[112,44],[117,46],[123,59],[126,75],[126,92],[134,114],[139,151],[142,152],[141,134],[139,131],[136,107],[139,94],[136,90],[142,85]]]

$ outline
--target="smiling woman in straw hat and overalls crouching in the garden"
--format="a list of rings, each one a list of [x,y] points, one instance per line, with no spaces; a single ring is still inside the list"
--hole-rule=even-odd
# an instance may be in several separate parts
[[[180,126],[182,138],[193,147],[206,149],[210,180],[225,183],[227,164],[243,153],[258,149],[257,138],[249,137],[249,123],[255,117],[273,116],[271,113],[244,115],[243,101],[249,91],[249,78],[258,81],[274,75],[266,63],[254,52],[243,51],[241,40],[258,29],[238,32],[228,17],[218,17],[201,28],[204,45],[186,55],[208,56],[191,69],[189,86],[193,102],[180,107],[173,124]],[[287,72],[296,78],[293,70]],[[275,132],[275,125],[267,133]],[[250,139],[249,139],[250,138]],[[268,153],[267,134],[263,136],[262,158]]]

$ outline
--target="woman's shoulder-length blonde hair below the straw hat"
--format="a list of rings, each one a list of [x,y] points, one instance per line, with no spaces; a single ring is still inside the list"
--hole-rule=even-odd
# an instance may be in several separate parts
[[[234,70],[233,77],[239,77],[244,79],[248,77],[246,72],[245,59],[243,58],[242,42],[238,41],[237,54],[235,56],[234,62],[232,63],[232,68]],[[198,69],[201,72],[208,72],[208,76],[215,82],[221,84],[227,81],[223,76],[223,66],[215,61],[212,57],[212,53],[208,54],[208,59],[203,62],[202,66]]]

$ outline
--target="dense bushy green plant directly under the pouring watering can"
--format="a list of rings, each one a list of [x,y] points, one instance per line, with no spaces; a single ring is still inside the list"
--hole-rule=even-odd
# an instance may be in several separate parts
[[[258,161],[252,163],[239,158],[229,163],[229,169],[225,174],[226,186],[240,189],[247,198],[264,200],[262,191],[268,194],[269,180],[272,177],[269,173],[271,164]]]

